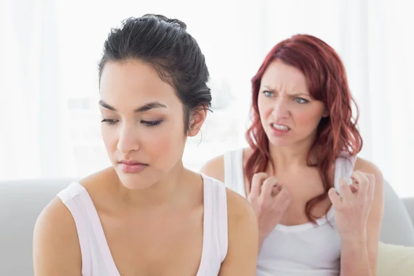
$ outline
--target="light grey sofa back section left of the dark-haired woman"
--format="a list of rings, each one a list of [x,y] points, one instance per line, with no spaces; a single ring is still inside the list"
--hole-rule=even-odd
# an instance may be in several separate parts
[[[41,210],[73,179],[0,182],[0,275],[33,275],[33,229]]]

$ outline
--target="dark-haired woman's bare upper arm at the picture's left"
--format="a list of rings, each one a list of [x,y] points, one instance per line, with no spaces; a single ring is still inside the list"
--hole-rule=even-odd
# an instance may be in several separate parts
[[[75,221],[55,198],[34,226],[34,276],[81,276],[81,250]]]

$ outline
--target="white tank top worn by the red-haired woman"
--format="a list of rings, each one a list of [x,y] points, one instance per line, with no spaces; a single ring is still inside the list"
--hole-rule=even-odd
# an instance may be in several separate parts
[[[351,180],[354,157],[335,161],[335,188],[339,178]],[[224,155],[224,183],[246,197],[243,173],[243,149]],[[333,208],[317,226],[306,223],[295,226],[278,224],[263,242],[257,260],[257,276],[339,276],[341,240],[334,221]],[[329,222],[329,224],[328,224]]]

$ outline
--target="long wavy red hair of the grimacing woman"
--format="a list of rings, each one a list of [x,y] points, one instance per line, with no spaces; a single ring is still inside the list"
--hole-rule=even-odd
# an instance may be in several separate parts
[[[301,70],[311,97],[322,101],[329,111],[329,116],[319,122],[316,139],[307,157],[308,166],[317,167],[324,186],[324,193],[306,203],[306,217],[315,224],[317,217],[311,211],[328,197],[328,190],[333,187],[335,159],[341,152],[357,155],[362,149],[362,137],[357,130],[359,111],[348,87],[344,64],[331,46],[307,34],[297,34],[277,43],[252,79],[252,125],[246,132],[246,139],[253,154],[244,168],[250,183],[255,173],[266,171],[272,162],[268,137],[259,117],[257,97],[262,76],[275,59]],[[352,115],[352,104],[355,105],[356,117]],[[311,164],[311,151],[315,147],[318,148],[317,163]]]

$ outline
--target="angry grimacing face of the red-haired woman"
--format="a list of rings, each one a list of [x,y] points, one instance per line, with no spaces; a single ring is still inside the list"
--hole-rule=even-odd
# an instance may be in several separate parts
[[[315,139],[319,121],[328,116],[324,103],[311,98],[304,74],[279,59],[264,72],[257,105],[264,131],[274,146]]]

